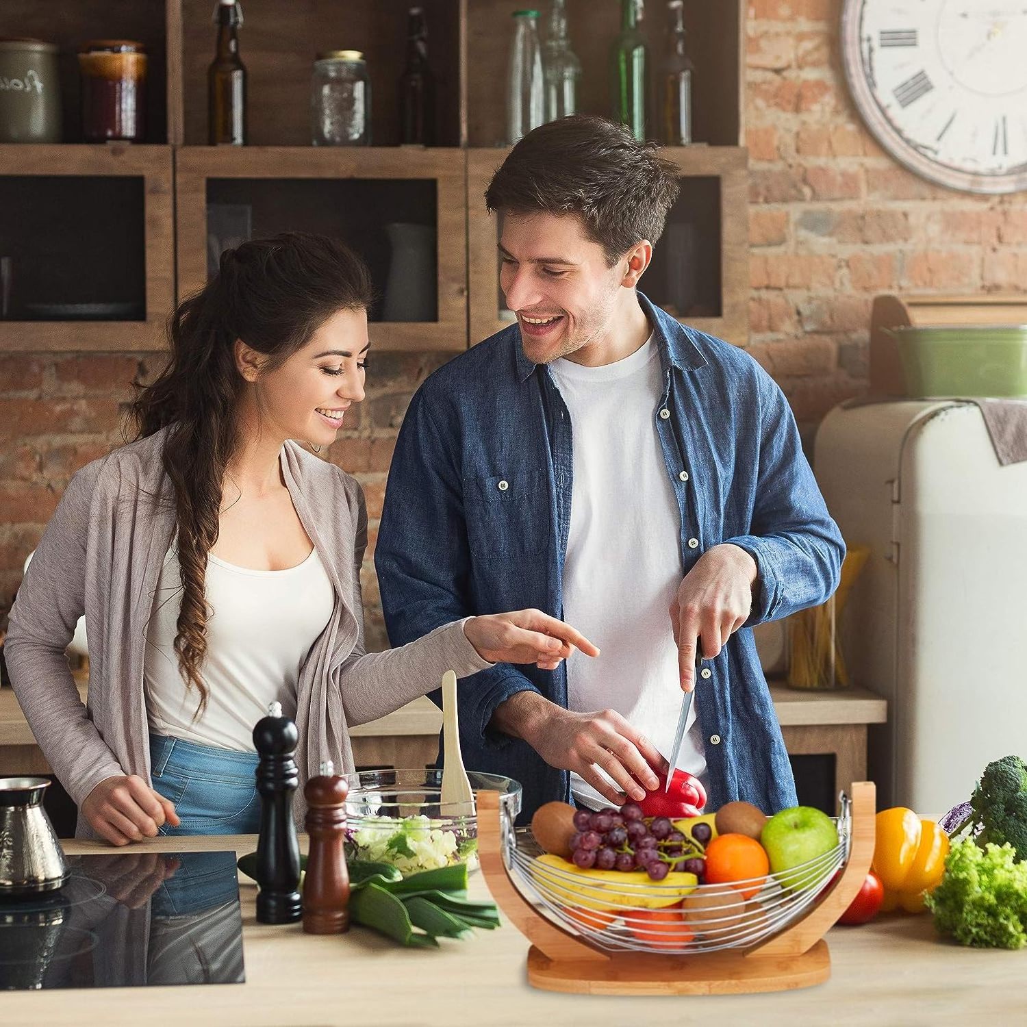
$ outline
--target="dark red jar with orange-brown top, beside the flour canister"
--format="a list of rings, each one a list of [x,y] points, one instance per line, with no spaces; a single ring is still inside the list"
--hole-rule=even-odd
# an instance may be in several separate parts
[[[78,51],[82,138],[86,143],[146,137],[146,47],[132,39],[97,39]]]

